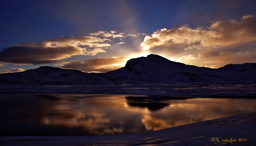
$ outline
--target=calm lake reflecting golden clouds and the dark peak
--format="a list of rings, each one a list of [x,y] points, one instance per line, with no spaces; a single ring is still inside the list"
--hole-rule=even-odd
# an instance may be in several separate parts
[[[132,134],[253,113],[255,105],[256,99],[0,93],[0,136]]]

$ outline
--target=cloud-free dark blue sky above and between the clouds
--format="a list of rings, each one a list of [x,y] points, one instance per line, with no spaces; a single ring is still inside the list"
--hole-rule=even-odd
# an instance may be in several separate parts
[[[90,33],[101,30],[106,32],[124,32],[126,34],[137,35],[137,37],[125,37],[125,40],[120,38],[120,40],[125,41],[125,44],[121,47],[114,47],[111,44],[112,49],[113,47],[116,49],[115,51],[108,48],[105,49],[107,53],[101,52],[97,55],[84,56],[71,55],[70,57],[66,57],[66,59],[63,57],[61,59],[65,61],[85,61],[99,57],[110,58],[114,56],[127,56],[121,53],[123,52],[122,49],[120,50],[118,48],[136,48],[131,51],[138,53],[141,51],[140,44],[145,35],[150,36],[159,29],[178,29],[182,26],[191,29],[198,27],[207,28],[214,22],[232,19],[239,22],[243,16],[256,14],[255,5],[255,0],[1,1],[0,49],[3,51],[3,48],[11,47],[17,43],[37,43],[54,38],[58,39],[61,38],[61,36],[89,36]],[[117,39],[111,40],[111,42],[114,41],[117,41]],[[116,53],[118,51],[119,53]],[[0,56],[1,53],[2,52],[0,52]],[[152,52],[148,53],[157,53],[157,51],[152,50]],[[111,56],[111,54],[113,55]],[[189,54],[187,53],[186,55]],[[78,57],[78,59],[76,59],[76,57]],[[168,57],[172,58],[171,56]],[[51,58],[51,60],[58,61],[61,59]],[[33,65],[29,65],[30,63],[27,63],[27,66],[23,65],[19,67],[17,62],[13,63],[4,60],[0,62],[3,62],[2,67],[0,67],[2,68],[2,72],[4,72],[6,68],[28,69],[34,67]],[[24,64],[24,62],[21,64]]]

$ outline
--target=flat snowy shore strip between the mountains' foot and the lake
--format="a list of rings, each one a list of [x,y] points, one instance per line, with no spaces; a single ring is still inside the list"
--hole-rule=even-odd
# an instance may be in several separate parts
[[[178,97],[222,97],[250,96],[256,97],[256,84],[250,83],[141,83],[141,84],[0,84],[0,93],[32,92],[32,93],[78,93],[78,94],[122,94],[122,95],[152,95]]]

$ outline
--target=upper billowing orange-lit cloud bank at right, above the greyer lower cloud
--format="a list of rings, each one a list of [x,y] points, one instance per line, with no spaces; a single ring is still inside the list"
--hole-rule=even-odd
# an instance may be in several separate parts
[[[256,40],[256,15],[248,15],[241,22],[236,20],[217,21],[208,28],[190,29],[182,26],[178,29],[161,29],[146,36],[141,43],[143,50],[161,45],[184,45],[186,49],[228,46],[239,42]]]

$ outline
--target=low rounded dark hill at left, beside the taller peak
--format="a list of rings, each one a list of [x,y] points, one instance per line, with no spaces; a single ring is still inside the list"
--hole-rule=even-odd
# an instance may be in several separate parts
[[[1,84],[30,84],[35,86],[57,85],[86,85],[105,84],[114,79],[96,74],[85,73],[73,69],[62,69],[51,66],[41,66],[22,72],[5,73],[0,75]]]

